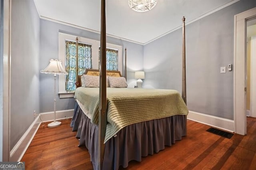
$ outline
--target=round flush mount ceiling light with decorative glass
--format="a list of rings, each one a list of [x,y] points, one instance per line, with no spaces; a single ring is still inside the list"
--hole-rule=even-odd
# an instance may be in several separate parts
[[[146,12],[156,6],[157,0],[128,0],[130,8],[137,12]]]

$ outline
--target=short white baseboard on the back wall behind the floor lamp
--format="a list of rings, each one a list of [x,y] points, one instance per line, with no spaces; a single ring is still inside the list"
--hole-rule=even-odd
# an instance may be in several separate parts
[[[68,119],[73,117],[74,109],[64,110],[64,111],[56,111],[56,120]],[[44,112],[40,113],[40,117],[43,122],[49,122],[54,120],[54,112]]]

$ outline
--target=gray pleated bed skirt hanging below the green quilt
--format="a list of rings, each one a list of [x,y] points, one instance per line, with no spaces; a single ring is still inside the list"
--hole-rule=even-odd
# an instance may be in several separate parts
[[[152,155],[163,150],[164,146],[171,146],[175,140],[186,136],[186,122],[186,115],[174,115],[122,128],[105,144],[103,169],[126,168],[131,160],[140,162],[142,156]],[[90,122],[77,103],[70,126],[73,131],[77,130],[76,137],[80,138],[78,146],[85,145],[88,148],[93,168],[98,169],[98,125]]]

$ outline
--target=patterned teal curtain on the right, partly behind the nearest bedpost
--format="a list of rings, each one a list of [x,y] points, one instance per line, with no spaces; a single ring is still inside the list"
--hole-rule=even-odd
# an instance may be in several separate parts
[[[99,47],[99,69],[100,69],[100,47]],[[118,50],[106,48],[106,69],[118,70]]]

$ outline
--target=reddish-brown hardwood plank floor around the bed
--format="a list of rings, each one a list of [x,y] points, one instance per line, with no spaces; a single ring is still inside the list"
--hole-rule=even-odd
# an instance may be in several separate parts
[[[209,126],[201,123],[188,120],[187,126],[182,140],[120,169],[256,169],[256,118],[247,118],[246,136],[234,134],[231,139],[206,132]],[[56,128],[41,125],[21,160],[26,170],[92,170],[88,150],[77,146],[75,136],[70,119],[62,120]]]

